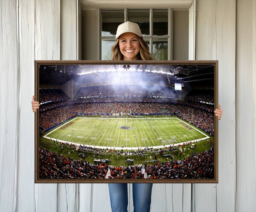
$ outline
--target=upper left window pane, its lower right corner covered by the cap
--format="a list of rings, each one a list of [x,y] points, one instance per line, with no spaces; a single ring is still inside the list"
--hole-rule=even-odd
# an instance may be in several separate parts
[[[124,10],[101,11],[101,36],[114,36],[119,24],[124,22]]]

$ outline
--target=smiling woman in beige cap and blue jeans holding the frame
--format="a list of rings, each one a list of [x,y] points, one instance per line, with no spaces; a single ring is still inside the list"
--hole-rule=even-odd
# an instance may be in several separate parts
[[[148,44],[143,40],[139,25],[132,22],[125,22],[118,26],[116,42],[111,48],[112,60],[153,60]],[[34,99],[34,96],[33,96]],[[39,103],[32,101],[32,109],[35,112]],[[215,116],[220,120],[222,110],[214,111]],[[149,212],[151,204],[152,183],[133,183],[133,205],[134,212]],[[112,212],[127,212],[128,189],[127,183],[109,183]]]

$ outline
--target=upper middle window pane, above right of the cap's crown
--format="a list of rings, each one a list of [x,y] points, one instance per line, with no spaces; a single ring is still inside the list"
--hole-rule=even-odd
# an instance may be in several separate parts
[[[128,21],[139,25],[142,36],[150,35],[149,10],[128,10]]]

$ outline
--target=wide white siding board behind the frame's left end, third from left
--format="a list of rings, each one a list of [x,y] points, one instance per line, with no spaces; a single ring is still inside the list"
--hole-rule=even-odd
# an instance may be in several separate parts
[[[35,1],[35,60],[60,59],[60,1]],[[57,211],[57,184],[35,184],[36,211]]]

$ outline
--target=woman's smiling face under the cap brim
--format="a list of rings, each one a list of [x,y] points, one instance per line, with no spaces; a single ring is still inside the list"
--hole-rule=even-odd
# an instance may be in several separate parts
[[[118,44],[124,61],[138,60],[140,44],[136,34],[130,32],[123,33],[119,36]]]

